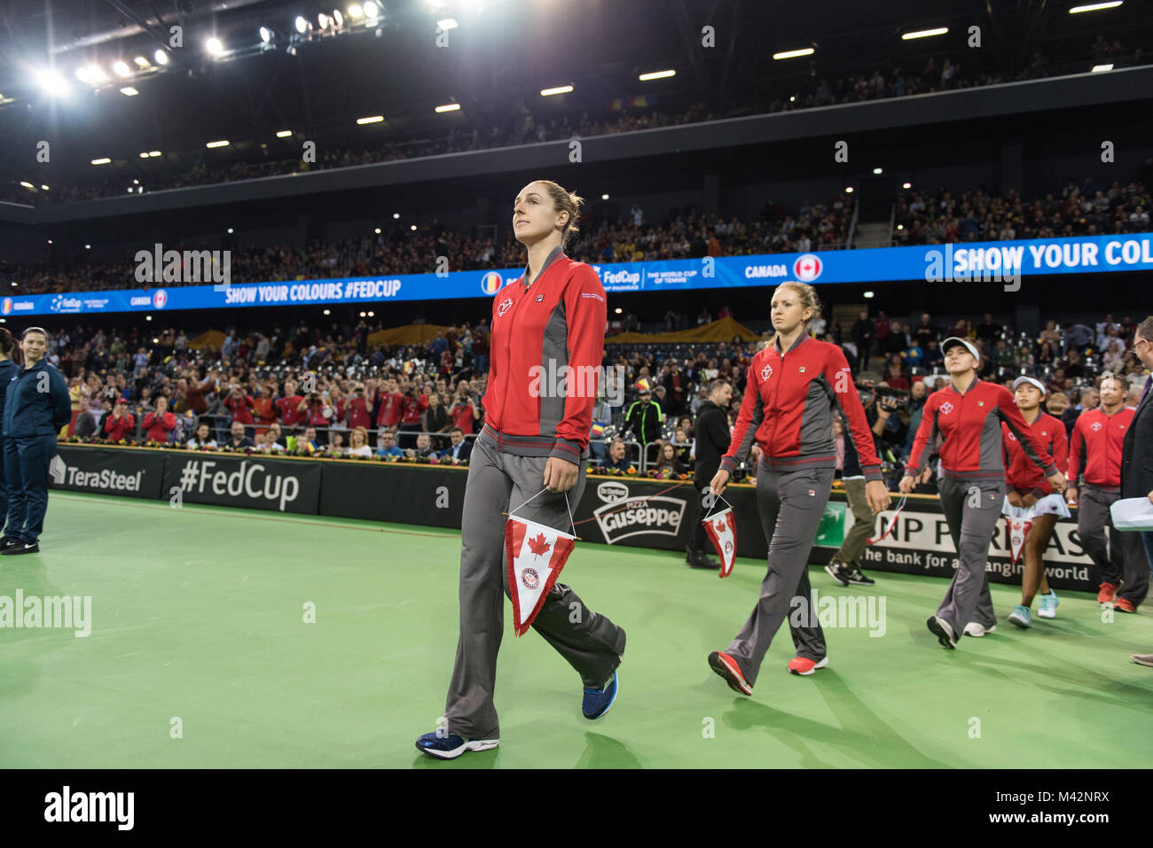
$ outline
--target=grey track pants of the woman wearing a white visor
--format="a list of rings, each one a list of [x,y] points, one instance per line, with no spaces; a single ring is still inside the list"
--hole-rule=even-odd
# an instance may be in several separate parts
[[[997,623],[985,566],[989,559],[989,543],[1001,518],[1005,484],[1004,480],[960,482],[942,477],[937,490],[941,509],[949,522],[949,535],[957,548],[957,570],[936,615],[949,622],[959,639],[965,624],[971,621],[985,627]]]

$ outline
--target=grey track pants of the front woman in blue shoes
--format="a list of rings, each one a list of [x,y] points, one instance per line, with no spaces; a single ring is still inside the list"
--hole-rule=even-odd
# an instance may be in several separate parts
[[[544,456],[500,453],[483,436],[473,447],[460,531],[460,639],[444,711],[449,732],[465,739],[499,739],[492,695],[508,595],[500,513],[512,508],[518,517],[572,532],[564,494],[545,492],[517,509],[544,487],[547,462]],[[568,491],[571,506],[580,502],[586,465],[582,460],[576,485]],[[620,665],[625,631],[588,610],[563,583],[553,584],[533,629],[576,669],[586,687],[600,687]]]

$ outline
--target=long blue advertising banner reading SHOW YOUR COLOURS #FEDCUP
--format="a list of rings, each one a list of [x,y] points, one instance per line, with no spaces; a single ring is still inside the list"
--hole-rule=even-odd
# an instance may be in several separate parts
[[[228,277],[229,257],[226,251],[180,253],[163,251],[161,245],[156,248],[155,255],[151,251],[137,253],[136,281],[151,282],[151,288],[5,297],[0,300],[0,313],[90,315],[332,303],[370,305],[391,301],[491,297],[502,287],[520,279],[522,273],[522,268],[510,268],[446,272],[443,275],[430,273],[227,285],[221,282]],[[812,283],[997,282],[1007,283],[1007,290],[1016,290],[1012,287],[1031,277],[1151,271],[1153,233],[704,257],[594,264],[593,267],[610,293],[773,286],[786,280]],[[216,285],[181,285],[201,280],[216,281]]]

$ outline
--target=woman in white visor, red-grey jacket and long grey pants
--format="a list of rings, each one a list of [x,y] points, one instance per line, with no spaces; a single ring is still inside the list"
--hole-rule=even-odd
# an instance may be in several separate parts
[[[1005,499],[1001,424],[1009,425],[1030,462],[1058,492],[1064,491],[1065,478],[1025,423],[1009,389],[977,378],[981,364],[977,348],[951,336],[941,349],[951,381],[925,403],[900,491],[913,491],[924,470],[921,461],[928,459],[926,446],[941,436],[937,490],[958,562],[944,599],[926,623],[941,645],[952,650],[969,622],[975,621],[982,633],[996,626],[985,563]]]

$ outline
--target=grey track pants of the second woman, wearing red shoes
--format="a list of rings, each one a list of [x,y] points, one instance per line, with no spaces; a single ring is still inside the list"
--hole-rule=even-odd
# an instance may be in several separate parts
[[[811,610],[808,554],[832,491],[832,476],[831,468],[775,472],[761,464],[756,470],[756,504],[769,543],[769,573],[748,621],[725,649],[749,686],[756,682],[764,652],[786,619],[797,656],[824,659],[824,634]],[[791,614],[797,606],[794,599],[802,599],[806,611],[797,618],[806,624],[811,621],[812,627],[794,626]]]

